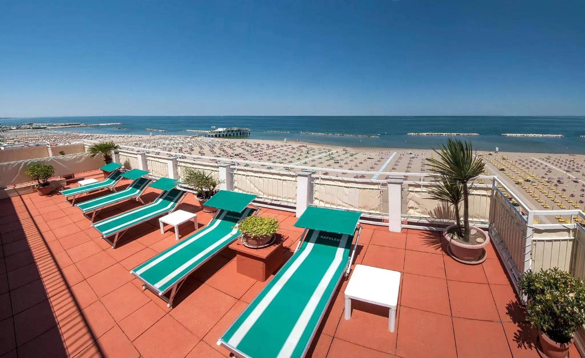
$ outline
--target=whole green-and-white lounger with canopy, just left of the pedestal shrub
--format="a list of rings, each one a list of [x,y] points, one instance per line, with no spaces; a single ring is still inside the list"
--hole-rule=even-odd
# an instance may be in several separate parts
[[[210,206],[220,209],[205,228],[135,267],[130,273],[144,282],[143,289],[158,294],[167,302],[167,307],[171,307],[184,279],[240,236],[238,228],[234,228],[240,220],[258,213],[257,209],[248,207],[254,199],[256,195],[220,190],[205,203],[205,206],[211,203]]]

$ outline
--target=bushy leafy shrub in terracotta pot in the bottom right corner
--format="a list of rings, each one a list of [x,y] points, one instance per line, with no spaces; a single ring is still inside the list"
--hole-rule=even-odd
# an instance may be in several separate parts
[[[526,319],[538,329],[542,353],[550,358],[566,357],[573,333],[585,324],[583,281],[553,267],[523,273],[518,287],[528,298]]]

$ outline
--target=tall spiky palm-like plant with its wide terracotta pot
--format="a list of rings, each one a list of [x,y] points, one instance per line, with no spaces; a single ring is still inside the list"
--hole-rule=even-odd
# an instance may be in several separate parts
[[[434,150],[438,158],[427,158],[432,164],[431,172],[439,175],[431,196],[449,203],[455,209],[456,223],[443,231],[443,238],[449,242],[449,255],[462,263],[477,264],[486,260],[490,243],[487,232],[469,224],[470,182],[484,171],[484,162],[473,152],[471,142],[448,139],[441,150]],[[459,203],[463,200],[463,225],[459,216]]]

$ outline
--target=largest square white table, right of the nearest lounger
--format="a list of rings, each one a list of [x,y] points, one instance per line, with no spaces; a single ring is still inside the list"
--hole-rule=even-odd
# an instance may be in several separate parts
[[[394,332],[400,272],[356,265],[345,288],[345,319],[352,317],[352,298],[390,308],[388,329]]]

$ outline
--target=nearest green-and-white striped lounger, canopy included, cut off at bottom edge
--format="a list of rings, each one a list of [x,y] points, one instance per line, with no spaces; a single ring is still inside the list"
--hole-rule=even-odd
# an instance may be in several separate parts
[[[217,344],[238,357],[303,357],[343,273],[349,273],[359,216],[308,207],[295,224],[306,234],[297,251]]]

